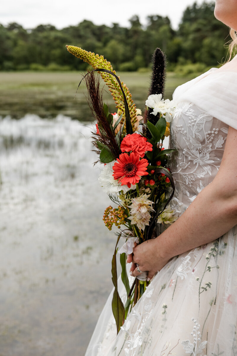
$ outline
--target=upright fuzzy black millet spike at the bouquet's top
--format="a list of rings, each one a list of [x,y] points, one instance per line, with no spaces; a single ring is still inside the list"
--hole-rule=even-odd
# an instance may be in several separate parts
[[[152,56],[152,72],[151,72],[151,85],[148,92],[148,96],[152,94],[164,95],[164,87],[166,80],[166,57],[160,48],[156,48]],[[153,110],[151,108],[145,109],[144,121],[149,120],[153,125],[160,119],[160,115],[151,114]],[[146,136],[151,138],[150,131],[147,130]]]

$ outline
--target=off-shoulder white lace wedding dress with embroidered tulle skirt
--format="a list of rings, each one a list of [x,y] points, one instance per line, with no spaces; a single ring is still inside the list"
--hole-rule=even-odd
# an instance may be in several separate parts
[[[212,69],[178,87],[174,99],[178,105],[170,146],[178,155],[172,167],[172,204],[181,215],[215,177],[228,126],[237,129],[237,73]],[[236,235],[234,227],[169,261],[118,335],[111,294],[86,356],[237,355]],[[125,294],[121,281],[119,285],[120,295]]]

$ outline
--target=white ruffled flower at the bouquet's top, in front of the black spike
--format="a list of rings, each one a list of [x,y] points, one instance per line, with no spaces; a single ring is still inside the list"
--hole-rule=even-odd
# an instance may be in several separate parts
[[[153,109],[151,114],[157,115],[161,112],[166,121],[171,122],[176,105],[173,100],[162,99],[162,94],[152,94],[146,100],[146,106]]]

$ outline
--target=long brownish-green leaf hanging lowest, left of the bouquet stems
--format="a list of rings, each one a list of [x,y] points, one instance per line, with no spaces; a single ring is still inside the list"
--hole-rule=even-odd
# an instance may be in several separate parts
[[[114,315],[114,319],[116,322],[116,326],[117,326],[117,333],[120,330],[120,326],[123,325],[124,323],[124,315],[125,315],[125,310],[124,310],[124,306],[122,303],[121,298],[119,297],[119,293],[118,293],[118,276],[117,276],[117,264],[116,264],[116,249],[117,249],[117,245],[120,239],[120,235],[118,236],[118,240],[117,240],[117,244],[115,246],[114,249],[114,255],[112,258],[112,281],[113,281],[113,285],[114,285],[114,294],[113,294],[113,299],[112,299],[112,311],[113,311],[113,315]]]

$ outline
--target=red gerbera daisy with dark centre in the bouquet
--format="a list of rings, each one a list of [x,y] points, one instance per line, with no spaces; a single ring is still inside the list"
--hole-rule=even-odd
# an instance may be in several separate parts
[[[137,153],[131,152],[130,156],[127,153],[121,153],[113,166],[113,177],[118,179],[121,185],[136,184],[141,179],[141,176],[146,176],[146,168],[148,161],[145,158],[140,159]]]

